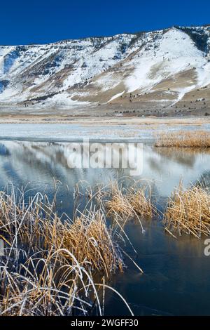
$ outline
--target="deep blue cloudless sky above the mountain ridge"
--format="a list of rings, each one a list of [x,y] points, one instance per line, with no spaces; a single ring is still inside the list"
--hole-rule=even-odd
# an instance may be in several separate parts
[[[210,24],[210,0],[2,0],[0,44]]]

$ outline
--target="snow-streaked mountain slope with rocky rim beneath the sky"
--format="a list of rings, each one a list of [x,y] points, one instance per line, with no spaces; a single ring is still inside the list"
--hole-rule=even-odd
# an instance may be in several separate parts
[[[210,84],[210,26],[0,46],[0,104],[168,102]]]

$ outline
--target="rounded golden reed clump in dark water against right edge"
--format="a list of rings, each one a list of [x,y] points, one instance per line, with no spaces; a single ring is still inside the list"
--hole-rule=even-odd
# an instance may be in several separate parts
[[[210,235],[210,195],[200,186],[174,190],[164,215],[167,231],[200,238]]]

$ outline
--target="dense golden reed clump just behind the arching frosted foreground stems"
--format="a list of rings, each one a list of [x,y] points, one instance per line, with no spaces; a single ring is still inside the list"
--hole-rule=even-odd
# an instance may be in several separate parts
[[[102,211],[81,213],[73,222],[62,223],[59,218],[43,223],[44,244],[50,249],[67,249],[79,263],[87,260],[92,270],[110,272],[123,271],[123,257],[111,228],[106,225]],[[72,258],[64,253],[67,260]]]

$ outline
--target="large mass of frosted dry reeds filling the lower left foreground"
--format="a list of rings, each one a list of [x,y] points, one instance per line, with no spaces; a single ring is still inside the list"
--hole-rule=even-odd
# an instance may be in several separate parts
[[[15,194],[0,194],[0,235],[6,246],[0,257],[0,315],[102,315],[102,291],[120,296],[104,283],[123,270],[116,230],[106,225],[102,209],[90,207],[73,221],[62,220],[41,194],[29,204],[24,198],[17,202]],[[97,284],[96,271],[102,274]]]

